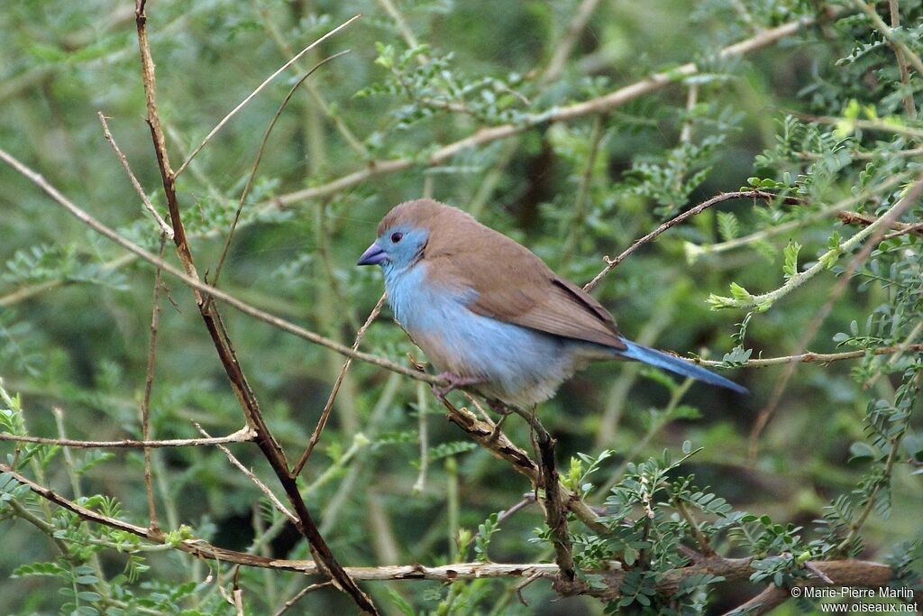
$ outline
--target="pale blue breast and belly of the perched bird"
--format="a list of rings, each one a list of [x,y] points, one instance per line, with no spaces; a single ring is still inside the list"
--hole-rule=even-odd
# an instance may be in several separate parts
[[[427,280],[426,263],[385,270],[394,317],[440,370],[483,377],[488,398],[531,406],[551,397],[584,362],[586,344],[472,312],[474,289]]]

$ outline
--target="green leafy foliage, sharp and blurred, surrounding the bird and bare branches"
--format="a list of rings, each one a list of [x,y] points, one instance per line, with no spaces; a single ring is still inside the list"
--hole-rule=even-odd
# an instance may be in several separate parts
[[[94,117],[110,117],[165,217],[130,5],[6,3],[0,148],[156,253],[159,228]],[[537,580],[522,588],[526,607],[515,578],[363,583],[382,610],[710,613],[740,598],[744,580],[697,571],[663,592],[692,551],[707,550],[751,557],[747,575],[760,586],[810,578],[811,561],[861,557],[891,565],[894,587],[918,587],[923,237],[837,215],[880,219],[914,188],[923,84],[913,65],[902,78],[893,44],[853,4],[599,3],[574,33],[579,0],[148,5],[174,169],[278,66],[363,14],[271,82],[177,178],[198,272],[213,280],[259,135],[285,92],[324,57],[352,51],[312,75],[280,116],[219,281],[342,344],[353,342],[381,293],[379,272],[355,268],[355,259],[401,200],[426,194],[471,211],[582,284],[604,268],[602,256],[677,213],[737,187],[754,193],[671,226],[593,291],[629,338],[720,357],[749,397],[611,363],[537,410],[557,440],[562,488],[603,512],[602,526],[569,513],[578,579],[595,590],[617,579],[620,596],[605,606],[587,597],[550,604],[554,590]],[[897,6],[902,25],[891,33],[920,56],[923,9]],[[877,9],[890,23],[884,4]],[[717,53],[817,16],[821,23],[744,56]],[[546,72],[565,42],[560,70]],[[679,68],[686,63],[697,72]],[[604,101],[617,104],[585,113]],[[0,185],[0,432],[142,438],[152,268],[6,164]],[[915,199],[896,222],[921,219]],[[169,242],[164,259],[176,263]],[[845,292],[833,297],[846,275]],[[193,296],[170,276],[162,284],[149,436],[198,438],[194,422],[212,435],[234,433],[245,420]],[[221,308],[294,464],[342,357]],[[360,350],[402,365],[408,353],[425,361],[390,317],[385,308]],[[861,356],[797,364],[790,375],[747,368],[754,358],[805,351]],[[532,455],[533,434],[519,417],[504,432]],[[282,498],[256,445],[229,448]],[[143,527],[142,451],[0,441],[0,463],[11,471],[0,471],[3,613],[232,614],[234,589],[248,613],[274,613],[306,585],[301,574],[238,571],[177,550],[208,541],[311,558],[288,518],[222,451],[170,447],[150,459],[161,541],[87,522],[17,479]],[[347,371],[298,486],[344,565],[554,558],[542,507],[497,513],[541,490],[463,438],[441,405],[425,410],[416,384],[364,362]],[[321,589],[291,611],[352,609],[341,593]]]

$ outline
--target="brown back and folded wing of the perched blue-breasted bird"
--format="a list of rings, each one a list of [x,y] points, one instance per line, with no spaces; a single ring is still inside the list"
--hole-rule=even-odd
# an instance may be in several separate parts
[[[482,225],[452,237],[458,241],[439,239],[441,248],[425,256],[427,271],[434,282],[473,289],[476,296],[468,308],[474,313],[626,348],[612,315],[581,287],[559,278],[528,248]]]

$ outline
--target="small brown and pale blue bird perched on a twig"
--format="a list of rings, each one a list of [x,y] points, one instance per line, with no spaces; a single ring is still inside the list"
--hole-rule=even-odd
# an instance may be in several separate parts
[[[404,201],[378,223],[357,265],[379,265],[394,319],[441,370],[433,392],[471,390],[529,409],[592,361],[628,359],[747,390],[641,344],[577,284],[471,214],[434,199]]]

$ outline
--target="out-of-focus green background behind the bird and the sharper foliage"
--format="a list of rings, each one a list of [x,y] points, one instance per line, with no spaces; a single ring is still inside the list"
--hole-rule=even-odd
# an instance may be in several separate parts
[[[821,254],[837,223],[831,216],[810,214],[822,203],[847,197],[859,185],[866,161],[849,159],[823,173],[809,168],[813,159],[799,152],[826,155],[823,140],[804,137],[800,149],[791,147],[796,137],[785,134],[782,118],[788,112],[840,115],[853,99],[875,105],[880,115],[902,111],[894,75],[879,72],[895,70],[887,46],[837,63],[857,41],[874,39],[856,20],[828,21],[746,57],[716,57],[728,44],[814,15],[814,4],[836,8],[835,3],[787,0],[603,2],[574,38],[559,74],[549,76],[548,61],[568,37],[578,2],[410,0],[395,2],[400,21],[371,0],[151,2],[159,108],[174,168],[289,57],[345,19],[363,15],[270,84],[181,176],[181,207],[198,269],[214,267],[260,139],[294,79],[323,57],[348,49],[308,78],[273,129],[222,271],[224,290],[351,344],[383,289],[377,269],[356,268],[354,262],[374,239],[380,217],[403,199],[426,195],[473,211],[481,222],[583,284],[605,266],[604,255],[615,256],[692,204],[746,186],[750,176],[794,185],[799,174],[817,172],[820,179],[804,191],[810,207],[796,211],[751,199],[718,206],[642,248],[594,292],[626,335],[658,348],[721,359],[740,344],[754,357],[789,355],[827,300],[836,280],[832,273],[821,273],[773,309],[754,315],[743,343],[733,336],[746,311],[714,311],[706,298],[725,295],[732,281],[752,293],[778,287],[784,282],[782,249],[791,239],[803,246],[802,261]],[[905,18],[918,19],[918,2],[901,4]],[[406,31],[427,46],[405,54]],[[439,165],[426,164],[440,145],[479,128],[520,123],[690,61],[699,64],[700,76],[677,79],[605,115],[540,124],[513,138],[462,149]],[[6,0],[0,7],[0,147],[93,216],[156,251],[157,228],[103,139],[98,111],[110,118],[114,139],[138,180],[165,211],[144,122],[132,3]],[[824,131],[829,134],[829,128]],[[861,135],[855,139],[851,147],[875,143],[863,142]],[[756,159],[767,150],[775,157],[767,156],[761,165]],[[287,197],[390,159],[414,163],[322,198]],[[897,171],[882,164],[872,174],[880,178]],[[22,395],[31,434],[58,435],[53,409],[59,408],[70,438],[139,438],[153,270],[126,262],[123,250],[5,165],[0,186],[4,388]],[[869,201],[869,211],[875,207]],[[734,216],[719,216],[719,210]],[[740,248],[687,259],[689,244],[708,247],[802,218]],[[854,230],[839,232],[847,236]],[[166,255],[176,262],[169,245]],[[162,301],[152,433],[162,439],[193,438],[198,436],[193,421],[212,435],[233,432],[243,425],[240,408],[192,296],[176,280],[165,278],[165,283],[169,293]],[[850,284],[835,302],[807,341],[810,350],[835,351],[833,336],[850,332],[854,320],[866,332],[870,315],[893,299],[889,285],[861,283]],[[232,308],[223,314],[270,427],[289,457],[296,457],[342,357]],[[903,340],[902,332],[895,329],[893,340]],[[407,353],[422,357],[390,320],[388,308],[362,348],[401,363]],[[569,381],[539,413],[559,441],[558,460],[565,468],[578,452],[616,451],[594,476],[598,484],[617,478],[627,460],[640,461],[665,448],[678,451],[689,440],[704,448],[686,466],[699,485],[711,486],[737,510],[804,525],[809,535],[822,507],[854,489],[869,468],[868,460],[850,461],[850,446],[863,440],[869,401],[893,392],[887,378],[863,389],[863,375],[857,377],[856,370],[870,365],[868,358],[799,365],[753,458],[750,429],[784,367],[726,372],[751,394],[740,397],[697,384],[681,405],[666,411],[671,392],[657,375],[636,366],[601,364]],[[522,424],[514,418],[508,431],[528,449]],[[421,481],[424,425],[429,451]],[[0,451],[12,452],[12,443]],[[275,485],[256,447],[236,445],[233,451]],[[72,454],[85,494],[113,496],[126,519],[146,524],[140,452]],[[919,528],[923,492],[912,471],[908,465],[894,470],[890,518],[869,516],[864,527],[869,558],[883,558]],[[165,528],[189,525],[197,537],[246,550],[269,525],[262,520],[258,489],[216,450],[158,450],[154,473]],[[458,527],[476,530],[488,514],[515,504],[530,489],[509,465],[477,449],[445,421],[425,387],[362,363],[350,369],[303,477],[309,508],[334,553],[350,565],[470,560],[471,551],[460,555],[451,538]],[[48,466],[43,483],[74,496],[60,458]],[[599,503],[604,496],[590,500]],[[541,525],[536,505],[510,517],[493,538],[490,559],[547,559],[548,552],[529,541]],[[263,553],[306,557],[292,527],[279,525],[268,539]],[[54,592],[59,580],[11,576],[20,565],[54,560],[51,542],[14,516],[0,519],[0,545],[0,611],[57,610],[64,601]],[[125,557],[113,550],[103,550],[100,558],[111,574],[125,565]],[[142,579],[149,589],[196,582],[201,586],[193,598],[177,605],[208,611],[202,606],[215,604],[214,590],[205,583],[206,563],[154,553],[148,564],[150,572]],[[290,574],[245,571],[241,579],[253,613],[278,609],[302,585]],[[512,595],[515,583],[485,583],[453,609],[602,610],[593,599],[550,603],[554,593],[543,582],[524,591],[530,600],[525,608]],[[430,582],[364,587],[389,613],[400,613],[389,593],[416,610],[437,610],[449,592]],[[746,584],[716,586],[709,610],[730,609],[758,590]],[[323,590],[293,613],[340,613],[349,606],[341,594]]]

